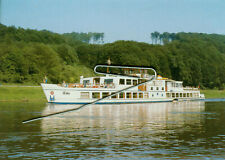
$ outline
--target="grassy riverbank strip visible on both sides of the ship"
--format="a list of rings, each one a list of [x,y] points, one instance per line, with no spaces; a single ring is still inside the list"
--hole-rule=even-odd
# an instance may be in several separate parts
[[[201,90],[206,98],[225,98],[225,90]],[[0,102],[47,102],[41,86],[1,85]]]

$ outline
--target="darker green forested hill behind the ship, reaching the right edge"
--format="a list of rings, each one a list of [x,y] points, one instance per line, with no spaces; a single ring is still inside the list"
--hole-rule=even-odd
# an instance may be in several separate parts
[[[224,88],[225,36],[201,33],[164,35],[169,37],[164,45],[117,41],[105,45],[82,45],[77,48],[77,54],[80,61],[91,68],[106,64],[110,57],[113,65],[152,66],[164,77],[184,81],[185,86]]]

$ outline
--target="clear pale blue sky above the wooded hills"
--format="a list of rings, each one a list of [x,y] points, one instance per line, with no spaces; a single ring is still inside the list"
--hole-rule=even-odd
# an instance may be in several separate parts
[[[225,0],[2,0],[1,23],[150,43],[154,31],[225,34]]]

